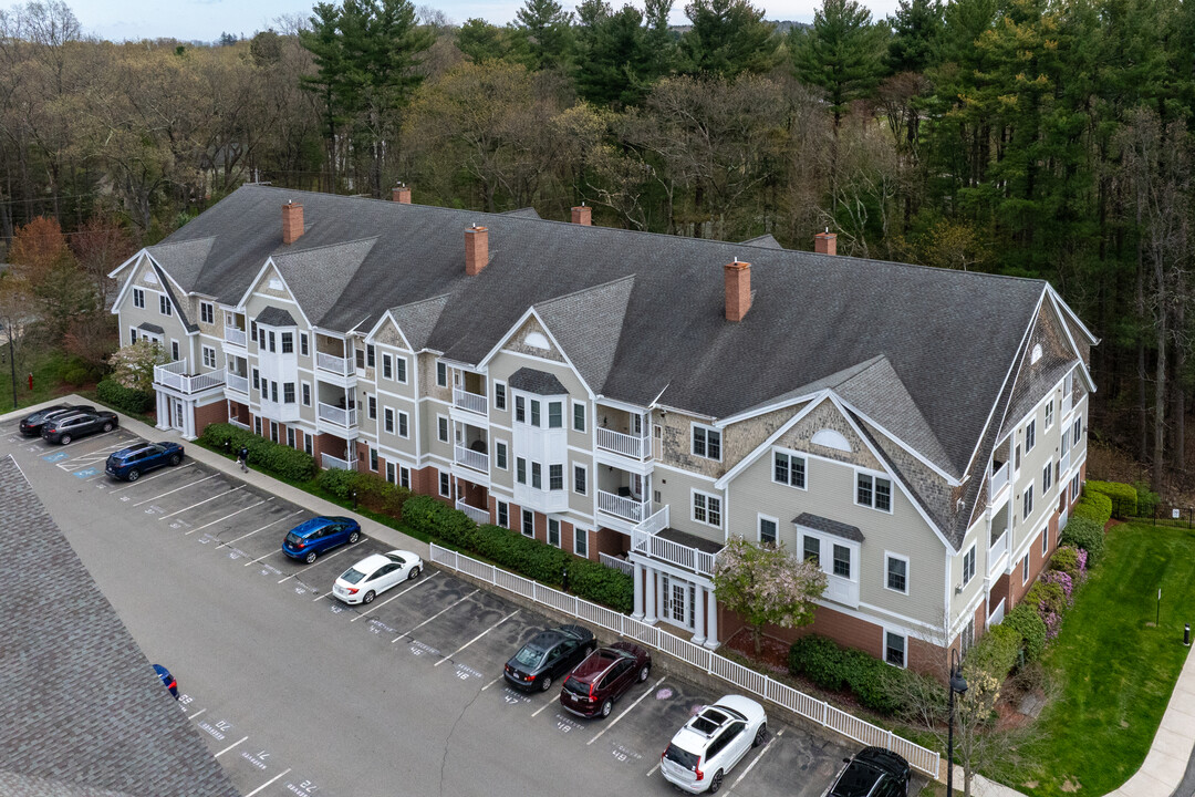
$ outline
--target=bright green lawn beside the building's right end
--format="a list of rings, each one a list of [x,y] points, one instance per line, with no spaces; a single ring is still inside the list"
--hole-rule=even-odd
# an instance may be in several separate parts
[[[1136,772],[1189,650],[1193,563],[1195,531],[1126,523],[1108,533],[1103,562],[1047,649],[1058,697],[1022,746],[1028,760],[1010,785],[1040,797],[1073,795],[1074,785],[1104,795]]]

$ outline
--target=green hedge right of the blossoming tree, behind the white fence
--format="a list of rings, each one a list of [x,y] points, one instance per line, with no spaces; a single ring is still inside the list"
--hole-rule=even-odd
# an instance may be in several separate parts
[[[893,667],[862,650],[840,648],[817,634],[792,643],[789,672],[823,689],[847,689],[863,706],[884,715],[907,711],[914,695],[945,694],[942,685],[920,673]]]

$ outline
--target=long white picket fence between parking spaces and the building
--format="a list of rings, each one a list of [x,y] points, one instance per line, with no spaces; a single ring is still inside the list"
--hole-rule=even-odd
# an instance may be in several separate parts
[[[740,689],[752,692],[765,700],[793,711],[847,738],[862,744],[885,747],[894,753],[899,753],[905,756],[913,768],[931,778],[938,777],[938,766],[942,756],[937,752],[924,748],[920,744],[914,744],[907,738],[896,736],[890,730],[872,725],[845,711],[839,711],[825,700],[811,698],[786,683],[780,683],[762,673],[756,673],[753,669],[719,656],[712,650],[701,645],[694,645],[688,639],[681,639],[662,629],[641,623],[621,612],[590,603],[576,595],[568,595],[551,587],[545,587],[539,582],[495,568],[491,564],[485,564],[455,551],[442,548],[435,542],[431,544],[431,562],[655,648],[687,664],[699,667]]]

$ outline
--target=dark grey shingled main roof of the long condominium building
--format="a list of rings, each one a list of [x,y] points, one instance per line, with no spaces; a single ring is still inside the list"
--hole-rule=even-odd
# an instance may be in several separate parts
[[[280,208],[288,200],[304,206],[305,233],[284,245]],[[464,231],[474,222],[489,228],[490,257],[468,277]],[[620,312],[619,323],[562,312],[549,331],[593,348],[584,378],[600,382],[589,385],[596,394],[712,418],[883,355],[887,379],[912,403],[891,412],[923,427],[931,448],[938,441],[927,455],[956,478],[1047,288],[1040,280],[770,241],[730,244],[263,185],[238,189],[159,247],[209,238],[198,293],[235,305],[272,256],[307,318],[331,331],[368,330],[387,308],[446,296],[425,347],[465,363],[480,362],[528,307],[633,277],[625,304],[618,290],[592,294]],[[736,258],[750,262],[754,294],[737,323],[725,320],[723,284],[723,265]]]

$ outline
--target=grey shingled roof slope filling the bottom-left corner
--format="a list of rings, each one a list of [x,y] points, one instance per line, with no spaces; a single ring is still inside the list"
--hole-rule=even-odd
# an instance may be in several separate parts
[[[237,795],[11,456],[0,505],[0,793]]]

